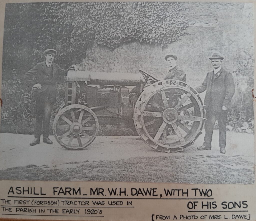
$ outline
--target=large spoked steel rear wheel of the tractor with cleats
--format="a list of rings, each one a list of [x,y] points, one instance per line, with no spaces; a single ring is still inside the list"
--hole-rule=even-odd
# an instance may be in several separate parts
[[[177,80],[158,81],[145,88],[134,110],[137,133],[152,148],[170,152],[192,144],[205,117],[197,92]]]

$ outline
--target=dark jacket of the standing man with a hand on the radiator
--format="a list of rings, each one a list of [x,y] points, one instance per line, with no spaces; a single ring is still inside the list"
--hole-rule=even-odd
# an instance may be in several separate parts
[[[45,61],[38,63],[25,74],[25,78],[28,80],[29,87],[32,87],[36,83],[40,83],[42,86],[42,88],[36,92],[35,100],[48,98],[49,101],[53,103],[56,101],[56,82],[58,82],[62,76],[67,75],[69,69],[64,70],[60,68],[59,65],[52,63],[49,74],[47,68]]]

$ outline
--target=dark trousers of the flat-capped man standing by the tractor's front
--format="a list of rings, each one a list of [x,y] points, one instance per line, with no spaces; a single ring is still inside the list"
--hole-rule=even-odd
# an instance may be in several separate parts
[[[52,103],[49,99],[36,100],[35,138],[49,136]]]

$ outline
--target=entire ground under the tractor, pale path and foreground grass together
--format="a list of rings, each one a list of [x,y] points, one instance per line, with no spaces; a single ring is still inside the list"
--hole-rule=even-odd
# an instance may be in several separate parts
[[[86,149],[70,151],[53,136],[53,145],[29,146],[31,135],[2,133],[0,179],[254,183],[253,134],[228,131],[226,154],[219,152],[217,130],[211,151],[196,149],[203,138],[168,154],[138,136],[98,136]]]

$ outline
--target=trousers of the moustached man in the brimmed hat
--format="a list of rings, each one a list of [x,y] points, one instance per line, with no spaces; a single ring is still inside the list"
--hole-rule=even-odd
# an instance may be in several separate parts
[[[205,142],[204,146],[211,148],[211,139],[216,120],[219,125],[219,147],[226,147],[226,124],[227,112],[226,111],[213,111],[212,108],[206,110],[205,122]]]

